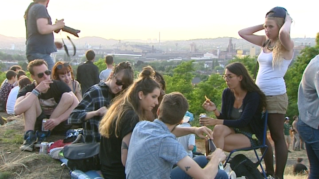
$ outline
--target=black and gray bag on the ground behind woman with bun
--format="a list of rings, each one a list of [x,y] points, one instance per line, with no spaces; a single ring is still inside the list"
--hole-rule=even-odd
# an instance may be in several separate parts
[[[100,143],[76,143],[63,147],[63,156],[68,159],[70,170],[100,170]]]

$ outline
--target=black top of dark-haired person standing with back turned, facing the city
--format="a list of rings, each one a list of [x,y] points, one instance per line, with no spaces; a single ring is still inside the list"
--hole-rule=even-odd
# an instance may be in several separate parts
[[[83,96],[87,89],[100,82],[99,68],[92,61],[85,61],[78,66],[77,81],[81,84]]]

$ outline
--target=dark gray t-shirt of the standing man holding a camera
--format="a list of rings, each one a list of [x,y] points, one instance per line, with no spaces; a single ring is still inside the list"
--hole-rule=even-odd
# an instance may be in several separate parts
[[[26,23],[26,54],[51,54],[57,51],[54,44],[53,32],[48,34],[39,33],[37,27],[37,20],[39,18],[48,18],[48,24],[52,25],[47,8],[41,4],[34,4],[29,9]]]

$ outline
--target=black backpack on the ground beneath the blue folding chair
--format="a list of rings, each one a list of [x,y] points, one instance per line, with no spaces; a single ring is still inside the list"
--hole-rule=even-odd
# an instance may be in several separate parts
[[[246,176],[248,179],[263,179],[257,169],[258,163],[254,163],[243,154],[238,154],[230,161],[230,168],[234,170],[237,177]]]

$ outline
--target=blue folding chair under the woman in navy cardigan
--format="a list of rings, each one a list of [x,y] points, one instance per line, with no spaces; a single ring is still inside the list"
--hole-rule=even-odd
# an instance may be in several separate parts
[[[267,152],[267,149],[268,149],[268,146],[266,145],[266,136],[267,136],[267,119],[268,119],[268,111],[265,111],[263,113],[263,116],[262,116],[262,119],[264,120],[264,129],[263,129],[263,144],[260,145],[260,146],[256,146],[256,147],[246,147],[246,148],[240,148],[240,149],[235,149],[233,151],[231,151],[228,155],[228,157],[226,158],[226,161],[224,163],[224,168],[226,167],[226,163],[230,160],[230,156],[234,153],[234,152],[238,152],[238,151],[249,151],[249,150],[254,150],[255,152],[255,155],[256,155],[256,158],[257,158],[257,164],[260,166],[260,168],[262,169],[263,171],[263,176],[267,179],[267,176],[266,176],[266,172],[265,170],[263,169],[263,165],[261,164],[261,161],[263,160],[263,157],[265,156],[266,152]],[[260,148],[265,148],[265,151],[263,152],[262,156],[259,158],[258,154],[257,154],[257,149],[260,149]]]

